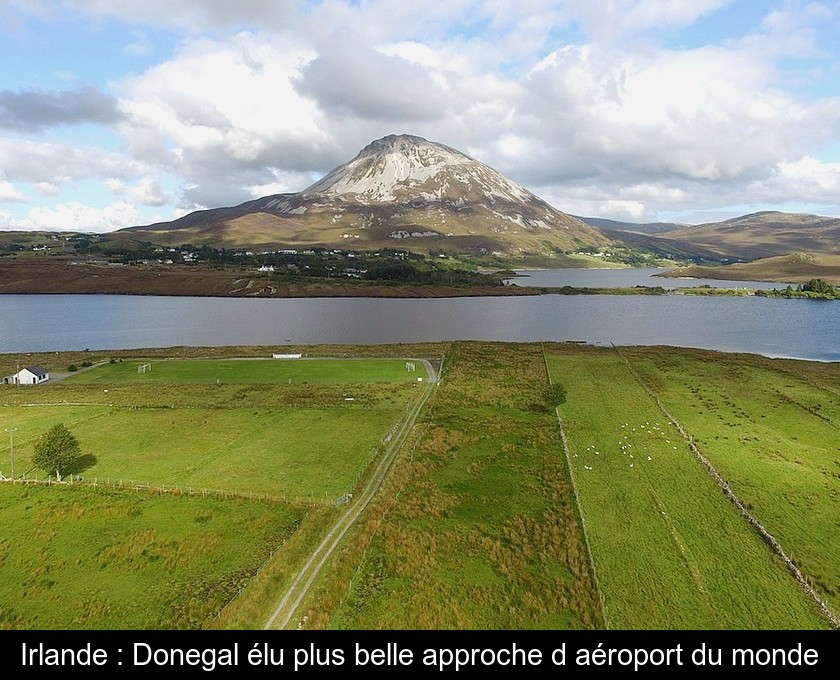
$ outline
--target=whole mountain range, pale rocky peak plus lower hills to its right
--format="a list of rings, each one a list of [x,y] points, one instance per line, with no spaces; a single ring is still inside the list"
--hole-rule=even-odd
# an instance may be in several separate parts
[[[717,261],[835,254],[840,219],[769,210],[699,225],[576,217],[453,147],[392,134],[302,191],[197,210],[112,238],[230,249],[398,248],[562,267],[579,264],[567,253],[610,245]]]

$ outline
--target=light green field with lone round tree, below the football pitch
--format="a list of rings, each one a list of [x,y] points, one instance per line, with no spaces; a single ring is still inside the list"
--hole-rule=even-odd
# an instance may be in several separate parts
[[[85,480],[333,499],[349,491],[398,410],[0,407],[14,423],[16,473],[38,435],[63,422],[79,440]],[[7,450],[8,454],[8,450]],[[0,470],[9,471],[6,459]]]

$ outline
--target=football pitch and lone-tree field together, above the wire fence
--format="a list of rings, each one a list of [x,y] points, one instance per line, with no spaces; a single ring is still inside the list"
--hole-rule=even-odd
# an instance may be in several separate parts
[[[332,499],[352,488],[416,391],[397,360],[170,359],[138,374],[141,363],[106,363],[36,389],[5,386],[0,422],[17,428],[16,475],[46,475],[31,463],[34,444],[63,422],[82,447],[73,472],[88,481]],[[293,363],[290,385],[290,370],[275,367]],[[232,379],[217,384],[227,365]],[[411,375],[425,378],[420,362]],[[243,382],[250,378],[258,381]]]

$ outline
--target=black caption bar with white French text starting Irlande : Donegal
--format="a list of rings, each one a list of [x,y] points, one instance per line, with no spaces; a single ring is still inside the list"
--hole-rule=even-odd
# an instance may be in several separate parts
[[[501,669],[649,677],[682,669],[840,670],[832,631],[6,631],[10,670],[174,670],[181,674],[275,675],[359,669],[427,674]]]

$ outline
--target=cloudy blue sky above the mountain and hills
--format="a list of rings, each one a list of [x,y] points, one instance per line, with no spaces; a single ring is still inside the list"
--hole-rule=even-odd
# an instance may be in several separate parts
[[[837,0],[0,0],[0,229],[301,191],[401,133],[574,215],[840,217],[837,35]]]

